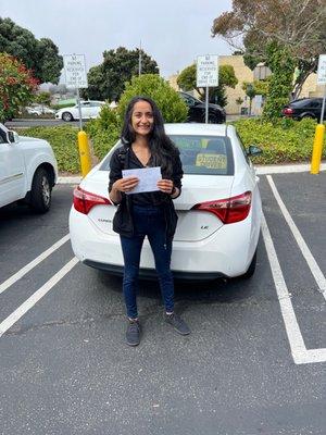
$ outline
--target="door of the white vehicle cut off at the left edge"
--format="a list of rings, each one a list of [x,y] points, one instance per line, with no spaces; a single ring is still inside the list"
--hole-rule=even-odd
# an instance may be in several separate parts
[[[9,144],[0,129],[0,207],[25,196],[25,164],[20,142]]]

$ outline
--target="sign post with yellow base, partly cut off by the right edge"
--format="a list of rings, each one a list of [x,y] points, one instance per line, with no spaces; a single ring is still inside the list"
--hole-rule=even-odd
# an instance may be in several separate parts
[[[311,174],[318,174],[321,169],[321,160],[323,152],[323,142],[325,134],[324,113],[325,113],[325,100],[326,100],[326,54],[319,55],[318,71],[317,71],[317,85],[324,85],[324,98],[322,104],[322,113],[319,124],[316,126],[316,133],[314,138],[313,153],[311,159]]]

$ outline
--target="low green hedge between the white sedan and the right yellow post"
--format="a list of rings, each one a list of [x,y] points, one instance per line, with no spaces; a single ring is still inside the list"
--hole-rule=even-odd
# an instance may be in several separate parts
[[[314,120],[280,120],[276,124],[258,119],[234,121],[246,147],[256,145],[263,154],[253,159],[255,164],[306,162],[311,160],[316,128]],[[326,158],[326,136],[323,158]]]

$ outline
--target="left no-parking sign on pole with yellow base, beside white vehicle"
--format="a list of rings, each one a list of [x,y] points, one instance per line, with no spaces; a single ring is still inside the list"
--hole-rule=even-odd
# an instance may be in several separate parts
[[[82,174],[85,177],[91,167],[90,150],[86,133],[83,130],[83,116],[80,107],[80,88],[87,88],[87,73],[84,54],[64,54],[63,67],[65,73],[65,85],[67,88],[77,90],[77,103],[79,113],[78,148]]]

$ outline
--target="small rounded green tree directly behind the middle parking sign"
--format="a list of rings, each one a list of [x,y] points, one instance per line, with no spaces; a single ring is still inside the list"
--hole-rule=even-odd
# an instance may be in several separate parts
[[[197,87],[197,66],[193,63],[183,70],[177,78],[178,86],[185,90],[189,91],[196,89],[202,98],[205,97],[205,89]],[[221,65],[218,66],[218,86],[215,88],[210,88],[210,101],[215,102],[222,107],[227,104],[226,99],[226,87],[235,88],[238,79],[235,74],[235,70],[231,65]]]

